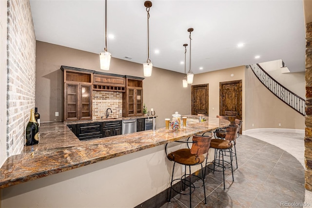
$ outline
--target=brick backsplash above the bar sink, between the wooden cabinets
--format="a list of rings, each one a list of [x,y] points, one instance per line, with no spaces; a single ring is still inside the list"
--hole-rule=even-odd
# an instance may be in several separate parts
[[[93,90],[93,114],[92,119],[98,120],[106,118],[106,109],[111,108],[113,113],[109,111],[109,118],[122,117],[122,93],[121,92],[106,92]]]

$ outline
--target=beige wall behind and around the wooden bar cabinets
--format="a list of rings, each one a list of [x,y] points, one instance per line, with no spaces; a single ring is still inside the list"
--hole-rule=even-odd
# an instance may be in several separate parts
[[[99,56],[39,41],[36,56],[36,106],[40,120],[62,121],[63,74],[60,66],[101,71]],[[142,64],[115,58],[111,60],[108,73],[144,77]],[[154,67],[152,76],[144,79],[143,102],[148,110],[154,108],[156,111],[157,127],[164,127],[164,119],[171,118],[175,111],[181,114],[191,113],[191,89],[182,87],[183,78],[182,73]],[[56,111],[59,112],[59,117],[55,117]]]

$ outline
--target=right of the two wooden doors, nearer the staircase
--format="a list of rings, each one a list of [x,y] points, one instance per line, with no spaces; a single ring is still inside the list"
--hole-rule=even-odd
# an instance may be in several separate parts
[[[242,120],[242,81],[220,83],[220,115]]]

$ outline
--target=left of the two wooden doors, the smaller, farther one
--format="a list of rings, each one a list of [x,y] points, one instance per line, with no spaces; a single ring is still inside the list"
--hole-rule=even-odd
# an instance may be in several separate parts
[[[209,114],[209,84],[192,85],[192,114]]]

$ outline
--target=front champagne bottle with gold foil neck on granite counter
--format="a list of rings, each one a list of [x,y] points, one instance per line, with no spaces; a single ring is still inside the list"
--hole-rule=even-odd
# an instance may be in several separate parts
[[[34,109],[30,110],[30,119],[26,126],[26,146],[39,143],[39,125],[35,119]]]

